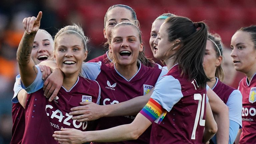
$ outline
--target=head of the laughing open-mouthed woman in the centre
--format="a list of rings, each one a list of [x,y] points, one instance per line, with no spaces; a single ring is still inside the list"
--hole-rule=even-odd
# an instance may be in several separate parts
[[[118,24],[110,36],[110,53],[113,53],[116,67],[137,67],[139,52],[143,50],[140,30],[129,22]],[[134,75],[134,74],[132,74]],[[130,78],[127,77],[129,80]]]

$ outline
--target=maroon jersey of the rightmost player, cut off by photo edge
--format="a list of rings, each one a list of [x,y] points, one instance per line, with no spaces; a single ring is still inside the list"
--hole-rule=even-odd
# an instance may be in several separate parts
[[[256,143],[256,76],[254,75],[251,82],[247,82],[244,77],[240,83],[238,90],[242,93],[242,133],[240,136],[240,144]]]

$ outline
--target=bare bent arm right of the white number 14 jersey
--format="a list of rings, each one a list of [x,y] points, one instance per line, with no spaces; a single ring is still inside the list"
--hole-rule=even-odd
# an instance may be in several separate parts
[[[209,104],[212,109],[214,119],[218,126],[216,133],[217,143],[226,144],[229,141],[229,110],[226,104],[216,95],[212,89],[207,90]]]

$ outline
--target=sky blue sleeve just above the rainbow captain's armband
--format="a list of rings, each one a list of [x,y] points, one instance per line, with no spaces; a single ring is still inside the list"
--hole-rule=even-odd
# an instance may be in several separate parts
[[[155,85],[151,98],[157,101],[165,110],[171,111],[172,107],[183,97],[178,79],[167,75],[161,77]]]

